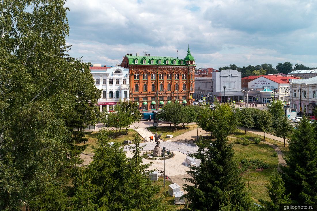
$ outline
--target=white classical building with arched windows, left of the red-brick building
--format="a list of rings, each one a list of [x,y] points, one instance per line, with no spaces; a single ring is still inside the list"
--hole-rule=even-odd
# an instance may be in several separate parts
[[[114,105],[117,105],[120,99],[130,100],[128,68],[101,67],[100,64],[94,64],[90,67],[90,73],[93,75],[96,87],[102,90],[98,100],[101,112],[113,111]]]

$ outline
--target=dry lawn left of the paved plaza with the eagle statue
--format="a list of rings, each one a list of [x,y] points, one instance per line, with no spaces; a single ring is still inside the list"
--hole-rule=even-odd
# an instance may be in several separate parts
[[[93,146],[98,146],[97,142],[97,135],[98,132],[94,131],[91,134],[88,134],[85,136],[85,138],[88,138],[88,142],[86,144],[89,144],[87,148],[83,151],[86,153],[92,153],[93,152]],[[132,140],[134,137],[135,130],[134,129],[129,129],[128,134],[126,135],[125,131],[120,132],[118,136],[114,135],[113,131],[109,131],[109,137],[111,137],[110,142],[115,142],[115,143],[120,143],[123,144],[123,141],[125,140]],[[141,141],[142,142],[142,141]],[[84,143],[81,144],[76,144],[76,145],[84,145]]]

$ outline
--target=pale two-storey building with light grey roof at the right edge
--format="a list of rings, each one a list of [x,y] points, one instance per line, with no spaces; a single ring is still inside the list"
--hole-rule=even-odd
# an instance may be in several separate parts
[[[317,76],[309,79],[291,80],[290,106],[307,116],[314,114],[317,105]]]

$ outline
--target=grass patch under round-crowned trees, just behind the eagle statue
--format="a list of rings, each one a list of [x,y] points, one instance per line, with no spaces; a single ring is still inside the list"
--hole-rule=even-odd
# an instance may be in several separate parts
[[[170,128],[170,126],[162,126],[162,127],[148,127],[147,129],[151,131],[152,133],[155,133],[156,130],[159,131],[159,133],[162,133],[162,137],[166,137],[166,135],[173,135],[173,137],[179,136],[185,132],[194,130],[197,128],[197,125],[187,125],[185,128],[183,126],[178,126],[177,130],[175,131],[174,126]],[[161,137],[161,139],[162,139]]]

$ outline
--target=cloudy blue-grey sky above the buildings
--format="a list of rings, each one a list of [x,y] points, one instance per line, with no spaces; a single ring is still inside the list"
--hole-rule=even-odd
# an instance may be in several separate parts
[[[289,61],[317,67],[317,1],[68,0],[70,55],[119,64],[126,53],[184,58],[197,67]]]

